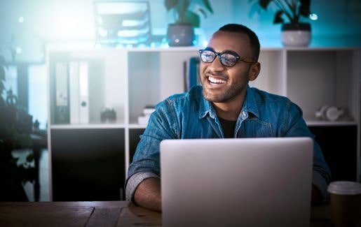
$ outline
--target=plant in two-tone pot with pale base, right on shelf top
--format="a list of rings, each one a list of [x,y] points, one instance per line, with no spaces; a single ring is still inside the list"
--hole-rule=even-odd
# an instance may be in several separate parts
[[[282,44],[285,46],[308,46],[311,41],[311,24],[303,22],[310,15],[311,0],[257,0],[267,10],[273,5],[278,8],[274,24],[282,24]],[[286,18],[286,20],[285,20]]]

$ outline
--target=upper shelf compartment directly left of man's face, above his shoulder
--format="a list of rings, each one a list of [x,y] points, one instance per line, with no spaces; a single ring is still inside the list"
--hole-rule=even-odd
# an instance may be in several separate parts
[[[197,56],[194,48],[128,52],[129,123],[137,124],[146,105],[156,105],[172,94],[183,93],[187,73],[184,63]]]

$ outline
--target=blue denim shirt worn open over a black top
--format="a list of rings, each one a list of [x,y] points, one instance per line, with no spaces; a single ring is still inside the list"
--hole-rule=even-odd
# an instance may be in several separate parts
[[[284,96],[247,86],[245,101],[236,121],[234,138],[311,137],[301,109]],[[147,129],[140,136],[125,182],[127,200],[132,200],[140,182],[160,176],[159,144],[165,139],[224,138],[222,126],[200,86],[175,94],[156,105]],[[285,171],[287,171],[285,169]],[[313,185],[327,200],[331,173],[320,146],[314,142]]]

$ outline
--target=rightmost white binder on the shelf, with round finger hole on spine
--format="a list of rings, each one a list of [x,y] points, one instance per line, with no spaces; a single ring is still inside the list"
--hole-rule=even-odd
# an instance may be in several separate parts
[[[79,62],[79,123],[89,123],[89,67],[88,62]]]

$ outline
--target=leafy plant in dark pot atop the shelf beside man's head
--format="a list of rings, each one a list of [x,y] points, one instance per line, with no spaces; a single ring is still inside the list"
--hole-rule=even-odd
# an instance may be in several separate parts
[[[165,0],[165,8],[172,11],[175,22],[168,24],[168,43],[170,46],[193,45],[194,28],[200,27],[200,14],[207,17],[213,13],[208,0]]]

